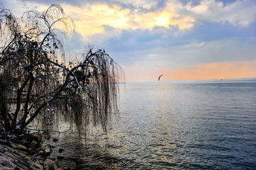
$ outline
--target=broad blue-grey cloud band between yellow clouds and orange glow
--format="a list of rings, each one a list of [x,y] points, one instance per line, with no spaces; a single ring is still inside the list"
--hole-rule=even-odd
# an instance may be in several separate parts
[[[177,68],[208,62],[254,60],[256,23],[235,27],[230,23],[204,23],[195,29],[177,34],[178,28],[122,30],[106,39],[104,45],[122,65],[154,60],[161,67]],[[103,35],[103,34],[102,34]],[[91,38],[91,39],[95,39]],[[148,62],[150,64],[150,62]]]

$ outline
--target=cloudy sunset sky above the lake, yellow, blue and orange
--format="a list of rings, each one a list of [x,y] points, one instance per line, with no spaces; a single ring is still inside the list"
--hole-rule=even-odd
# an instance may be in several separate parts
[[[69,50],[106,50],[127,82],[256,77],[255,0],[0,2],[17,14],[60,4],[77,25]]]

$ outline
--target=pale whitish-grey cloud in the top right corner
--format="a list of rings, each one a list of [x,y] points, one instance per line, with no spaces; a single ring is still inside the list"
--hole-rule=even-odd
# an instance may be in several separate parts
[[[196,21],[229,22],[233,25],[247,26],[255,21],[256,1],[234,1],[224,5],[222,1],[203,0],[197,6],[187,4],[189,14]]]

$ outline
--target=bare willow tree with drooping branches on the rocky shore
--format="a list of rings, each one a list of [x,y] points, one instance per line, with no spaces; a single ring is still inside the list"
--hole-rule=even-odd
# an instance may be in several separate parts
[[[66,61],[62,35],[74,31],[60,5],[21,18],[0,13],[0,113],[6,131],[21,133],[42,113],[64,114],[78,125],[106,124],[116,109],[121,68],[104,50]]]

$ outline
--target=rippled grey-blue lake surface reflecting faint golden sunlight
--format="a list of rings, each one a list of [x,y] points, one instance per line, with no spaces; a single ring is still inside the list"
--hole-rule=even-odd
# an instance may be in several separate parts
[[[256,169],[255,82],[121,84],[120,95],[120,113],[107,135],[91,132],[86,145],[70,132],[59,135],[52,152],[55,157],[65,149],[59,164],[69,169]]]

